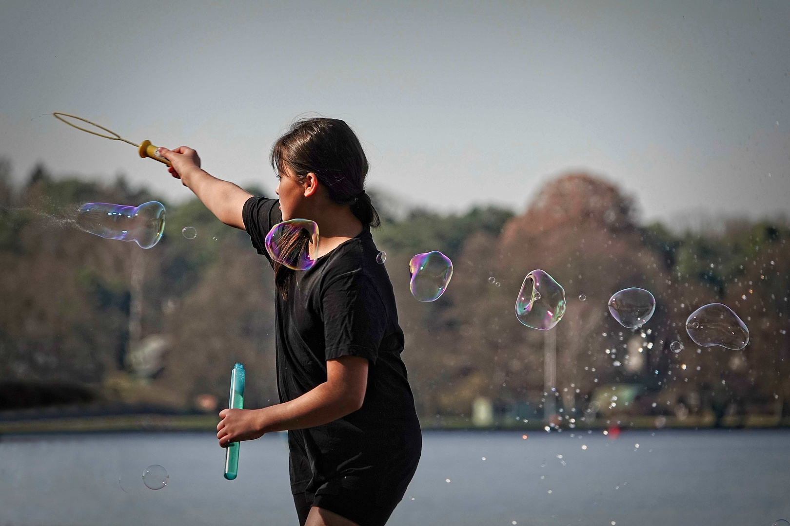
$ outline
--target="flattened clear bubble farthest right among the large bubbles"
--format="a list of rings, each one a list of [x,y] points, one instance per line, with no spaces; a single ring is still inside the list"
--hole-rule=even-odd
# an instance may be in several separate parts
[[[749,330],[727,305],[707,304],[686,320],[686,332],[702,347],[720,345],[724,349],[743,349],[749,343]]]

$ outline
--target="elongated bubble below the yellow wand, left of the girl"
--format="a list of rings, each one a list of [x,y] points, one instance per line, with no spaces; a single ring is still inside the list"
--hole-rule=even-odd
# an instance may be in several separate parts
[[[134,241],[140,248],[151,248],[162,239],[164,216],[164,205],[159,201],[139,207],[85,203],[77,215],[77,226],[105,239]]]

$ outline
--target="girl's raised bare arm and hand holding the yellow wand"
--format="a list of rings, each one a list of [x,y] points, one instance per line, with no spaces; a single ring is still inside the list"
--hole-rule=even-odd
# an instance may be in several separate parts
[[[244,229],[242,208],[252,197],[249,192],[201,170],[198,152],[192,148],[179,146],[168,150],[160,147],[157,153],[170,161],[172,166],[167,171],[181,179],[182,184],[192,190],[217,219],[228,226]]]

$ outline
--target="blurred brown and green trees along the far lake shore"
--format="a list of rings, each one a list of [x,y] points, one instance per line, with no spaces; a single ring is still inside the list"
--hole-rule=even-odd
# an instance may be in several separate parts
[[[39,166],[12,188],[9,174],[0,162],[0,385],[78,384],[96,403],[213,411],[242,362],[250,407],[276,401],[272,272],[246,233],[198,200],[174,206],[122,177],[100,185],[55,179]],[[82,203],[153,199],[167,207],[167,224],[149,250],[73,228]],[[386,196],[374,201],[382,214],[374,238],[388,253],[421,416],[468,417],[482,398],[502,416],[542,417],[547,397],[564,420],[788,412],[786,220],[732,219],[676,233],[641,224],[633,200],[585,173],[547,183],[521,215],[499,207],[398,214]],[[185,226],[198,237],[183,237]],[[408,260],[431,250],[453,260],[454,274],[439,300],[420,303],[408,292]],[[142,269],[137,291],[133,268]],[[553,330],[552,393],[544,390],[546,334],[513,312],[536,268],[567,297]],[[619,326],[607,308],[612,293],[632,286],[656,297],[641,330]],[[134,301],[139,334],[130,325]],[[747,324],[746,349],[699,348],[688,338],[688,315],[713,302]],[[679,353],[672,341],[683,344]],[[637,395],[599,396],[620,393],[617,386]]]

